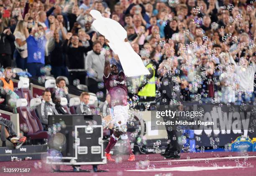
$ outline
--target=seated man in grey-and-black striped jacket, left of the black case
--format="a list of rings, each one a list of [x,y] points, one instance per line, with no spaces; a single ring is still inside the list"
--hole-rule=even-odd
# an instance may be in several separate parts
[[[51,102],[51,92],[46,90],[42,94],[43,100],[42,103],[38,105],[37,112],[38,117],[43,124],[44,130],[48,131],[48,116],[56,114],[58,115],[58,112],[55,109],[55,104]]]

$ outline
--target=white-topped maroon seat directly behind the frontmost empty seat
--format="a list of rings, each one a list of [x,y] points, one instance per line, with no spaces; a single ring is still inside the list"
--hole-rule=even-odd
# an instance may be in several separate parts
[[[29,89],[29,79],[21,79],[18,82],[18,91],[21,92],[21,96],[18,94],[18,96],[20,96],[20,98],[25,98],[28,102],[28,106],[29,106],[29,102],[30,100],[33,98],[30,89]]]

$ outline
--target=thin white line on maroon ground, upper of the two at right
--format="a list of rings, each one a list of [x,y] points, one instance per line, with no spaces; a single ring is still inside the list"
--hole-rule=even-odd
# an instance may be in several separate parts
[[[162,161],[150,161],[150,162],[205,161],[205,160],[218,160],[218,159],[244,159],[244,158],[256,158],[256,156],[225,156],[225,157],[215,157],[215,158],[165,159],[165,160],[162,160]]]

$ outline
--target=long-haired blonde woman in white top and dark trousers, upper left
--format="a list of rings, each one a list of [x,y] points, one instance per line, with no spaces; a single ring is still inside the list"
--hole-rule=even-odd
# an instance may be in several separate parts
[[[18,68],[26,69],[27,67],[27,57],[28,57],[28,50],[27,50],[27,42],[26,37],[24,35],[23,30],[23,20],[18,21],[17,26],[14,31],[15,36],[15,51],[13,57],[16,60],[16,64]]]

